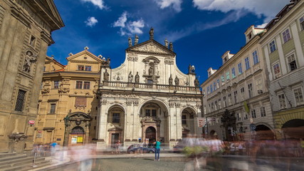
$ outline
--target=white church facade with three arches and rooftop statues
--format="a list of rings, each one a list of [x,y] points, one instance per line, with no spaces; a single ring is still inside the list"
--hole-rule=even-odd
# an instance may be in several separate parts
[[[125,147],[155,140],[172,147],[187,134],[201,134],[201,91],[194,66],[179,71],[172,43],[153,38],[135,44],[129,38],[125,62],[100,70],[97,147],[120,140]]]

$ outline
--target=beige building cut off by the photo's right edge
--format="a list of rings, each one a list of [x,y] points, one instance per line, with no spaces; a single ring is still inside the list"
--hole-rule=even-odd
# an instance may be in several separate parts
[[[304,138],[304,1],[290,1],[266,29],[259,43],[277,138]]]

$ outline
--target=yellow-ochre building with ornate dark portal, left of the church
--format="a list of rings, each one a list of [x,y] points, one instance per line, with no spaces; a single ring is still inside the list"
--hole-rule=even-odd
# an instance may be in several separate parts
[[[95,138],[100,67],[106,62],[88,51],[69,54],[63,66],[46,57],[35,143],[82,145]]]

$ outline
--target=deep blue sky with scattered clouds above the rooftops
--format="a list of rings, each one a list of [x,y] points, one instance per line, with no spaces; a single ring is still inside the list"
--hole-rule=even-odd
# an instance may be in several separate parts
[[[127,38],[137,34],[139,43],[154,39],[173,42],[177,66],[187,73],[195,66],[200,83],[209,67],[221,66],[221,55],[236,53],[245,45],[244,32],[263,28],[289,0],[54,0],[65,27],[52,33],[48,47],[64,65],[68,53],[85,46],[96,56],[111,58],[112,68],[125,61]]]

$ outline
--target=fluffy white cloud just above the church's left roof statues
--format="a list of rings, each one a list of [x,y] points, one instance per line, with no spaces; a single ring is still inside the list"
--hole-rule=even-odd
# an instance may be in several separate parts
[[[137,21],[127,21],[127,12],[122,13],[122,15],[114,22],[113,27],[120,27],[120,35],[132,35],[132,34],[142,34],[142,28],[145,26],[145,21],[139,19]]]

